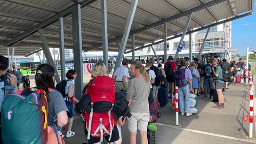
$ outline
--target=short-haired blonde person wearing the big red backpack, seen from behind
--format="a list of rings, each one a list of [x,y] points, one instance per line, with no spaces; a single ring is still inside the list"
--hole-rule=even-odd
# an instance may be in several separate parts
[[[111,77],[107,75],[107,68],[105,64],[101,62],[96,63],[92,67],[91,77],[93,79],[90,81],[91,83],[89,84],[89,87],[86,93],[90,94],[91,105],[93,105],[93,111],[97,109],[98,112],[92,113],[92,111],[90,111],[90,113],[86,112],[83,114],[86,121],[85,135],[87,137],[87,140],[89,143],[99,144],[101,143],[101,140],[103,140],[103,137],[105,137],[107,142],[119,144],[120,140],[119,140],[118,129],[116,126],[118,122],[117,123],[114,122],[113,111],[111,111],[111,113],[109,112],[109,110],[111,110],[111,108],[113,107],[113,103],[115,102],[115,82]],[[110,103],[110,109],[109,109],[109,103]],[[107,111],[103,109],[107,109]],[[97,137],[98,135],[97,129],[93,129],[93,127],[94,128],[97,127],[99,123],[93,123],[93,117],[98,117],[98,118],[100,117],[100,119],[102,119],[100,121],[105,122],[105,123],[102,123],[102,125],[105,127],[104,131],[106,132],[107,130],[110,132],[110,134],[107,134],[107,135],[100,134],[100,137],[102,137],[102,139]],[[105,121],[106,119],[108,119],[108,121]],[[109,121],[113,121],[114,125],[111,125],[112,123],[110,123]],[[107,122],[109,122],[109,124]],[[90,127],[90,123],[91,123],[91,127]],[[97,133],[97,134],[94,135],[94,133]]]

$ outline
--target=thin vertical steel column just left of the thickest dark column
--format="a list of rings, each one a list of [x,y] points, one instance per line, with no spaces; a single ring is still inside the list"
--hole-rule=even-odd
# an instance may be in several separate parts
[[[64,46],[64,26],[63,26],[63,17],[59,18],[59,37],[60,37],[60,74],[61,81],[66,79],[65,71],[65,46]]]

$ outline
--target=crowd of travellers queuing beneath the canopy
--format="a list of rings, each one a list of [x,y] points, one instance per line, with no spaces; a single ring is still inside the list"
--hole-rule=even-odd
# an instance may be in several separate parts
[[[88,112],[87,110],[83,111],[85,119],[87,114],[87,119],[89,118],[91,121],[94,113],[92,112],[92,109],[93,107],[96,107],[95,105],[97,104],[97,102],[95,102],[96,97],[100,96],[100,99],[107,98],[108,95],[111,95],[111,97],[114,95],[115,97],[115,93],[120,93],[122,91],[126,93],[124,98],[127,100],[127,106],[129,106],[131,113],[131,116],[129,117],[122,115],[118,117],[118,119],[115,119],[117,123],[115,123],[114,120],[112,122],[110,118],[113,117],[110,113],[113,113],[111,110],[113,109],[115,99],[111,102],[111,109],[106,112],[109,116],[110,133],[103,135],[109,143],[122,142],[121,127],[126,122],[126,119],[130,131],[130,143],[136,143],[137,130],[140,131],[141,135],[140,143],[148,143],[147,127],[148,122],[150,121],[148,99],[156,98],[158,89],[162,85],[167,87],[167,94],[170,98],[175,94],[175,86],[178,86],[180,114],[191,116],[193,114],[190,113],[190,93],[196,95],[204,94],[205,100],[209,99],[212,101],[214,91],[216,91],[218,94],[218,104],[213,106],[213,108],[225,108],[222,91],[228,89],[229,84],[235,84],[236,75],[244,75],[243,70],[245,69],[242,59],[239,59],[238,63],[235,63],[235,61],[229,63],[226,59],[219,60],[217,58],[207,59],[206,63],[203,60],[194,59],[193,62],[189,63],[188,60],[185,59],[177,59],[177,61],[173,61],[173,57],[170,55],[167,62],[163,65],[159,63],[156,67],[154,66],[154,63],[154,60],[149,59],[146,62],[146,66],[143,66],[141,61],[135,60],[130,63],[131,65],[129,68],[129,60],[123,59],[122,66],[115,70],[112,79],[108,79],[107,68],[104,63],[98,62],[93,66],[92,81],[87,85],[88,89],[86,91],[86,94],[90,94],[91,103],[89,110],[91,110],[91,112]],[[1,55],[1,76],[6,74],[8,66],[9,60]],[[36,89],[43,89],[48,101],[47,126],[50,127],[47,143],[65,143],[62,140],[63,137],[66,136],[66,138],[69,138],[75,135],[75,132],[71,131],[71,128],[75,116],[73,106],[79,102],[76,98],[80,96],[76,95],[77,97],[74,97],[74,79],[76,79],[77,73],[73,69],[67,71],[65,95],[62,95],[58,91],[52,91],[55,88],[56,75],[52,66],[42,64],[36,71]],[[12,93],[17,92],[17,78],[13,74],[10,74],[8,81],[14,86]],[[102,91],[97,91],[95,87],[99,86],[97,85],[98,83],[108,84],[108,89],[105,90],[104,87],[98,87],[98,89]],[[29,76],[26,76],[24,85],[29,87],[29,84]],[[0,92],[1,112],[1,106],[6,95],[3,91]],[[207,97],[208,92],[210,92],[209,97]],[[89,122],[86,122],[86,124],[88,123]],[[100,141],[102,141],[101,137],[97,137],[97,134],[95,134],[96,132],[94,134],[90,133],[94,129],[91,127],[90,123],[88,127],[85,124],[86,129],[84,127],[86,137],[89,139],[89,143],[100,143]],[[54,127],[63,127],[66,124],[66,134],[63,134],[60,129],[58,135],[55,135]],[[107,128],[105,127],[105,130],[106,129]],[[2,139],[0,143],[3,143]]]

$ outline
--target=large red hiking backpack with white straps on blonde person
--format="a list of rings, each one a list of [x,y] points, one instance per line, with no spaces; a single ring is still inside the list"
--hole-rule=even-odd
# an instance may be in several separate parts
[[[113,111],[111,111],[115,103],[114,85],[112,78],[98,76],[92,79],[86,91],[91,97],[91,111],[83,113],[88,140],[92,136],[103,141],[106,135],[109,135],[109,140],[111,139],[113,127],[117,125]]]

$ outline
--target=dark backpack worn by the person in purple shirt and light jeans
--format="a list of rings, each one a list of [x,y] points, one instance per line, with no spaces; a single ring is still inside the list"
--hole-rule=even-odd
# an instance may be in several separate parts
[[[175,71],[174,75],[174,81],[175,85],[178,87],[186,86],[188,84],[186,77],[185,77],[185,71],[187,68],[180,68],[177,71]]]

